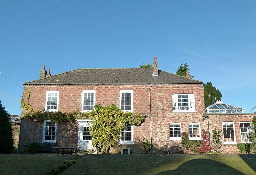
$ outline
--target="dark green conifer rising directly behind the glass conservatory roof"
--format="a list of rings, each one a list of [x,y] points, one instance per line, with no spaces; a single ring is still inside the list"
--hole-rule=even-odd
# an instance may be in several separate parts
[[[215,86],[212,86],[211,82],[207,82],[204,85],[204,107],[208,107],[215,103],[215,98],[220,100],[222,94]]]

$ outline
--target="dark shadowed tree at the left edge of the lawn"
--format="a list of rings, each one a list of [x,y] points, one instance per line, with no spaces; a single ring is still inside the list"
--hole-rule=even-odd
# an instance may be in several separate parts
[[[13,149],[12,125],[9,115],[0,103],[0,154],[11,154]]]

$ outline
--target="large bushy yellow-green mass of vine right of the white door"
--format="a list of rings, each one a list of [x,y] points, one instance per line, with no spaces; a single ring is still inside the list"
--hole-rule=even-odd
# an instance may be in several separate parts
[[[121,130],[125,127],[125,123],[133,126],[142,124],[143,116],[131,112],[122,112],[116,105],[108,105],[102,107],[95,105],[92,112],[88,113],[92,121],[90,134],[93,137],[92,145],[102,152],[109,152],[110,147],[120,147],[119,138]]]

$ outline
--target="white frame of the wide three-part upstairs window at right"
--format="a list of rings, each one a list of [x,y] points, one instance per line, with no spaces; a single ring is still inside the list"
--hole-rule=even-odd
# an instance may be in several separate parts
[[[188,95],[188,110],[179,110],[178,95]],[[176,110],[173,110],[173,106],[175,103],[176,103]],[[192,106],[192,110],[191,110],[191,106]],[[172,94],[172,113],[196,113],[195,94]]]

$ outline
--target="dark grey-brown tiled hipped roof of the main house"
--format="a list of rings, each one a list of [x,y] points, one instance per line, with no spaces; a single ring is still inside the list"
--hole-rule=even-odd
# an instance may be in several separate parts
[[[201,81],[153,68],[76,69],[23,84],[202,84]]]

